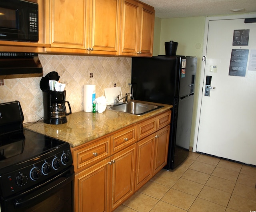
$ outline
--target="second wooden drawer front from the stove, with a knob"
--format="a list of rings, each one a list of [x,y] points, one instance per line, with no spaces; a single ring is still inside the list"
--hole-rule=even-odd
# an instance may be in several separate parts
[[[137,140],[137,127],[129,127],[128,129],[124,129],[120,131],[119,133],[114,134],[111,136],[111,141],[112,141],[112,152],[116,153],[117,151],[120,151],[128,145],[131,145],[132,143],[135,143]]]

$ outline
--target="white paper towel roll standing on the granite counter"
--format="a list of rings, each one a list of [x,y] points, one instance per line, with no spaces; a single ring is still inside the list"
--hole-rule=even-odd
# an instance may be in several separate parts
[[[84,85],[84,111],[92,112],[92,102],[96,97],[96,85]]]

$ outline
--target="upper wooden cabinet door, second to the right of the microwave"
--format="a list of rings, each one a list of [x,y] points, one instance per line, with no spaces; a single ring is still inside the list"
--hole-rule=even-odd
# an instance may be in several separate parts
[[[119,54],[120,0],[91,0],[86,49],[90,54]]]

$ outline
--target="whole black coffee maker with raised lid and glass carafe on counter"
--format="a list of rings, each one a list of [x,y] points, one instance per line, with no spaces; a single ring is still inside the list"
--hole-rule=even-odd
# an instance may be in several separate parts
[[[44,106],[44,123],[59,125],[67,123],[67,115],[71,114],[71,107],[66,101],[66,91],[51,91],[49,80],[58,81],[60,76],[57,72],[52,71],[40,81],[40,88],[43,91],[43,106]],[[69,107],[69,113],[66,110],[66,103]]]

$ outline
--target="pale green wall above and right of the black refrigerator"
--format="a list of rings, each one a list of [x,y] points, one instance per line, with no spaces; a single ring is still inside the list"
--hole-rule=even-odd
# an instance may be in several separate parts
[[[164,42],[173,40],[174,42],[178,42],[176,55],[195,56],[198,58],[190,147],[193,147],[194,144],[196,111],[198,107],[198,94],[200,91],[199,82],[203,56],[204,26],[205,17],[166,19],[156,17],[154,26],[154,56],[158,54],[164,55]]]

